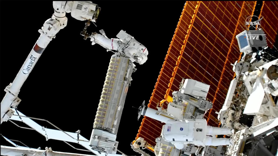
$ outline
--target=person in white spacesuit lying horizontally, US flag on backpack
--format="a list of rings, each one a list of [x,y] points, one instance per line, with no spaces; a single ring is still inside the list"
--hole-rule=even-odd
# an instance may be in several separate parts
[[[205,119],[168,120],[161,132],[162,138],[171,142],[178,149],[182,149],[184,144],[233,146],[233,141],[228,138],[213,137],[215,135],[232,134],[234,134],[233,129],[208,126]]]

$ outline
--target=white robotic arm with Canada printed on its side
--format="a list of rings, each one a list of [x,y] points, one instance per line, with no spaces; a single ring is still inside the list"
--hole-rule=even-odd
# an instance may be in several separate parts
[[[55,38],[56,34],[67,26],[66,12],[71,12],[71,16],[80,21],[89,20],[93,22],[96,21],[100,12],[98,5],[90,1],[53,1],[53,8],[54,14],[39,29],[39,33],[41,34],[39,39],[23,63],[14,81],[5,89],[6,95],[1,101],[1,124],[14,114],[14,111],[10,107],[16,108],[20,103],[21,100],[17,97],[20,88],[33,70],[44,49],[52,38]]]

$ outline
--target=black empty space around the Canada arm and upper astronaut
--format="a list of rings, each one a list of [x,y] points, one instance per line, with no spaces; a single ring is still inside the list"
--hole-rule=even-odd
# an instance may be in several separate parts
[[[93,3],[98,4],[101,11],[98,27],[91,24],[88,32],[104,29],[108,38],[116,38],[123,29],[149,51],[147,62],[136,64],[138,70],[132,75],[117,135],[120,151],[139,155],[131,150],[130,143],[136,137],[142,117],[137,121],[137,110],[132,106],[139,107],[143,100],[148,103],[185,1]],[[0,2],[1,100],[5,87],[13,81],[38,39],[38,29],[53,12],[52,1]],[[80,129],[81,135],[89,140],[112,53],[83,40],[80,32],[85,21],[77,21],[68,13],[66,16],[67,27],[50,42],[23,84],[18,110],[26,116],[46,119],[64,131]],[[52,128],[46,122],[37,122]],[[62,141],[46,141],[36,131],[21,129],[9,121],[1,124],[1,134],[32,148],[47,146],[54,151],[90,154]],[[2,137],[1,145],[12,146]],[[78,144],[72,145],[81,148]]]

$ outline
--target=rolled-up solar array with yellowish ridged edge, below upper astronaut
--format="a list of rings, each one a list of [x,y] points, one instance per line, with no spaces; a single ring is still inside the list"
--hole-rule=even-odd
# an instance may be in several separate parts
[[[132,70],[133,65],[129,58],[118,54],[111,56],[94,121],[94,129],[103,129],[117,134]]]

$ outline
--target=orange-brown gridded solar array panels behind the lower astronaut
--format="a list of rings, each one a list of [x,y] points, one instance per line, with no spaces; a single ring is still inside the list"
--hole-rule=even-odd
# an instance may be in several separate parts
[[[160,101],[172,101],[172,92],[178,91],[183,78],[210,85],[207,98],[213,108],[205,114],[208,125],[218,127],[217,114],[224,104],[233,66],[239,60],[237,34],[244,31],[246,18],[253,15],[256,1],[187,1],[182,10],[175,34],[167,51],[148,107],[156,109]],[[275,3],[273,5],[272,3]],[[263,2],[259,17],[266,32],[268,44],[274,44],[278,25],[278,3]],[[267,17],[266,17],[267,16]],[[272,26],[271,29],[264,28]],[[272,46],[270,46],[272,47]],[[167,105],[163,105],[164,108]],[[163,123],[144,116],[136,139],[144,138],[155,146]],[[150,149],[153,150],[153,149]]]

